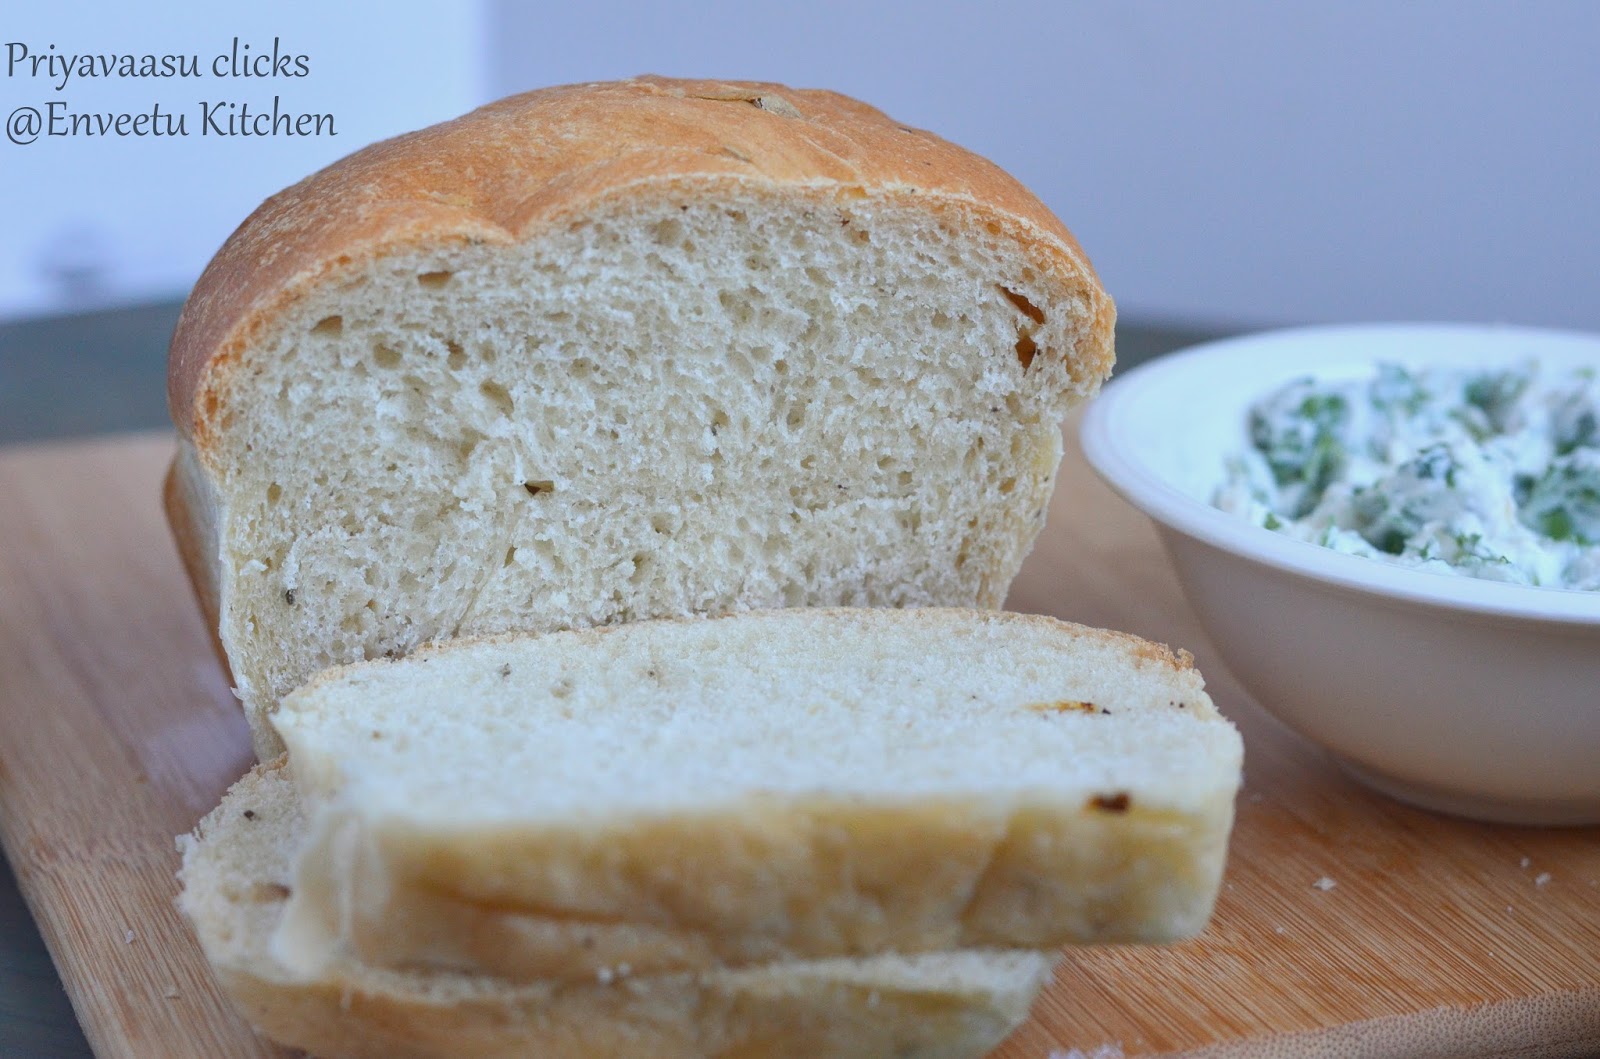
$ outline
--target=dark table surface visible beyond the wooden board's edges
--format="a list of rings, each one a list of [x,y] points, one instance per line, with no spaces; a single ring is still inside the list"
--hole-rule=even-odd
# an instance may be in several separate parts
[[[166,342],[178,307],[155,302],[0,323],[0,445],[170,426]],[[1117,326],[1117,368],[1226,333],[1125,320]],[[0,1056],[91,1054],[6,864],[0,872]]]

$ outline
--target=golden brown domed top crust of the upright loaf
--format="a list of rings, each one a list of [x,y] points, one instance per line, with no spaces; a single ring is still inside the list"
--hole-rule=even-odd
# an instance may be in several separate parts
[[[645,182],[734,179],[914,198],[1018,238],[1093,326],[1074,376],[1110,371],[1115,309],[1059,219],[994,163],[829,91],[757,82],[568,85],[512,96],[382,141],[262,203],[184,306],[168,402],[186,437],[216,422],[211,381],[318,280],[397,250],[510,243]]]

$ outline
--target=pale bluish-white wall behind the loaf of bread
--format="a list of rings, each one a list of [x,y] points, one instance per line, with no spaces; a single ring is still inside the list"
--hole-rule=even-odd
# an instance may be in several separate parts
[[[168,51],[277,34],[317,62],[283,94],[336,110],[341,136],[0,142],[0,314],[59,304],[42,248],[82,243],[85,219],[110,298],[181,293],[266,194],[370,139],[659,72],[840,88],[994,157],[1078,234],[1125,317],[1600,330],[1595,3],[133,6],[18,8],[0,37]],[[48,93],[0,78],[6,112],[24,94]]]

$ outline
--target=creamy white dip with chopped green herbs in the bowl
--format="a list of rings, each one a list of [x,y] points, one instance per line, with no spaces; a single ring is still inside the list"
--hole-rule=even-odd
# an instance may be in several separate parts
[[[1597,379],[1534,363],[1294,379],[1250,408],[1218,506],[1370,558],[1600,590]]]

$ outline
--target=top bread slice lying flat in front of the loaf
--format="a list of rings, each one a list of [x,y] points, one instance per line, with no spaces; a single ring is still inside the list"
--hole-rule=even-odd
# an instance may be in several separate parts
[[[1242,753],[1187,656],[958,609],[458,641],[275,723],[314,808],[275,939],[306,973],[1174,941]]]

